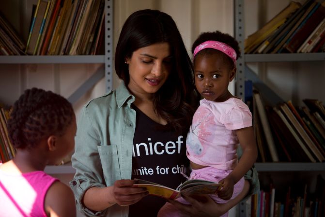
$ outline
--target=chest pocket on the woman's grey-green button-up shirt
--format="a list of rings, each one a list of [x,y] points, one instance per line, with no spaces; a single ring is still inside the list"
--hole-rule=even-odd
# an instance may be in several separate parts
[[[117,155],[117,146],[98,146],[98,153],[103,167],[103,175],[107,186],[121,179],[121,168]]]

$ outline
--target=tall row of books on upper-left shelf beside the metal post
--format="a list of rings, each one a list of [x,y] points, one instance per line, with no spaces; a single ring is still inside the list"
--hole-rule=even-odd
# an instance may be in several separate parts
[[[100,54],[104,0],[38,0],[33,6],[26,53],[29,55]]]

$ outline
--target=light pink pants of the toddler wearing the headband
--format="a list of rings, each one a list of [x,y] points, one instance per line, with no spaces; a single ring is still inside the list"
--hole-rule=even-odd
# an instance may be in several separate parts
[[[228,176],[232,170],[220,170],[216,169],[214,167],[204,167],[201,169],[193,169],[189,179],[202,179],[207,180],[211,182],[218,183],[220,180],[224,179],[226,176]],[[243,190],[244,188],[244,177],[241,178],[234,186],[233,186],[233,198],[237,197],[238,194]],[[222,200],[221,198],[218,198],[217,195],[209,195],[213,200],[216,201],[216,203],[226,203],[227,200]],[[178,198],[176,199],[179,202],[182,202],[184,204],[189,204],[184,198]],[[182,213],[179,209],[177,209],[174,205],[172,205],[169,202],[166,202],[163,207],[158,212],[157,217],[188,217],[186,214]],[[222,215],[222,217],[228,217],[228,212]]]

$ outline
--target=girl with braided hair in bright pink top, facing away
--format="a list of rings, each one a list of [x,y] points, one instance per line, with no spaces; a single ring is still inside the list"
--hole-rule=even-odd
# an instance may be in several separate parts
[[[46,174],[74,149],[77,131],[72,105],[38,88],[25,90],[8,121],[15,158],[0,165],[1,217],[73,217],[72,190]]]

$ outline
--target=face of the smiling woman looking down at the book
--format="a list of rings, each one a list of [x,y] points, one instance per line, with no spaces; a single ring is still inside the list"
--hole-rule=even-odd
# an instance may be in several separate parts
[[[172,56],[167,42],[156,43],[135,50],[129,65],[128,88],[134,94],[153,94],[166,82],[171,70]]]

